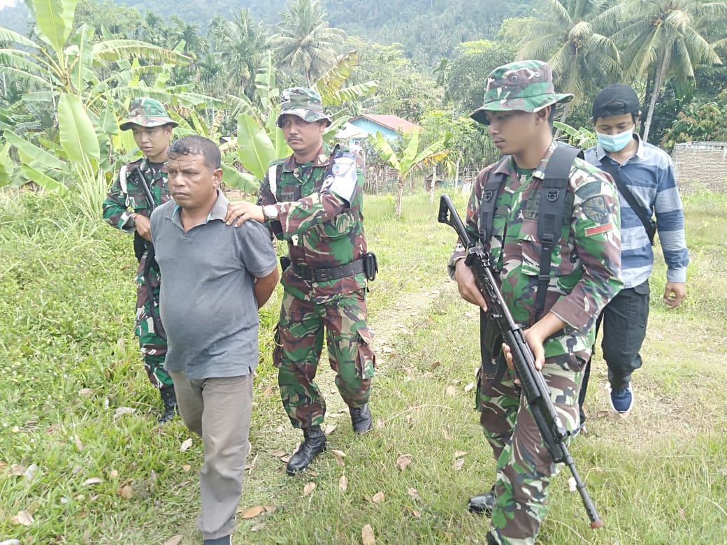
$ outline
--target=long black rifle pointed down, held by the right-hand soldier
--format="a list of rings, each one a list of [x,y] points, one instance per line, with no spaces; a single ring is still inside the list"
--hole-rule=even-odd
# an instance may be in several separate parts
[[[472,269],[475,285],[485,298],[487,318],[497,325],[502,339],[510,347],[513,363],[515,363],[515,374],[520,379],[523,395],[545,443],[545,448],[547,448],[555,464],[564,463],[569,467],[590,518],[591,528],[601,528],[603,520],[598,516],[598,511],[596,511],[595,505],[593,505],[593,501],[588,495],[585,483],[578,475],[576,464],[564,442],[569,433],[566,432],[558,413],[555,412],[553,401],[550,400],[550,389],[547,387],[545,378],[535,368],[535,357],[525,340],[523,329],[515,323],[513,315],[510,314],[510,310],[505,304],[505,299],[502,299],[502,293],[497,287],[497,283],[495,283],[490,267],[488,252],[482,246],[475,245],[470,241],[465,225],[462,223],[459,214],[457,214],[457,210],[454,209],[449,195],[442,195],[440,198],[438,220],[454,228],[459,240],[467,248],[465,265]]]

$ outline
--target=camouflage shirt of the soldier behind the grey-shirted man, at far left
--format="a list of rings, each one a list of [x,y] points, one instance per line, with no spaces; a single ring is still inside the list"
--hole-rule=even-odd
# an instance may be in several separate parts
[[[156,206],[169,201],[169,185],[166,180],[166,163],[154,172],[146,157],[133,161],[126,165],[126,183],[121,180],[121,175],[116,177],[106,200],[103,201],[103,219],[111,227],[121,229],[124,233],[134,233],[133,225],[129,225],[129,217],[132,214],[142,214],[150,217],[152,207],[149,206],[145,191],[138,187],[129,176],[132,169],[139,167],[149,184]],[[124,187],[125,186],[125,187]],[[133,223],[133,222],[132,222]]]

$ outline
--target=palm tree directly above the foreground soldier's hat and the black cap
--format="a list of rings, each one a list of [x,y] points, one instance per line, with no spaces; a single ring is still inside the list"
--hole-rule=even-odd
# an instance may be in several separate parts
[[[598,16],[609,5],[609,0],[540,0],[537,20],[510,30],[524,36],[517,58],[547,60],[558,92],[574,95],[563,109],[563,122],[587,89],[613,81],[621,70],[616,44],[598,32]]]

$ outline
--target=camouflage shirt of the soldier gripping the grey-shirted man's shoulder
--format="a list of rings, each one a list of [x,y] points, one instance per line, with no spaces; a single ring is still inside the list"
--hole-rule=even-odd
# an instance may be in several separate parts
[[[260,184],[257,203],[274,204],[278,209],[278,218],[271,222],[270,230],[288,243],[290,259],[296,266],[326,269],[366,254],[364,174],[355,153],[339,150],[333,165],[330,160],[331,150],[324,144],[311,163],[299,165],[294,156],[272,161]],[[331,173],[326,176],[329,167]],[[270,177],[276,178],[272,185]],[[298,299],[324,304],[364,288],[366,278],[358,273],[310,282],[290,267],[281,283]]]

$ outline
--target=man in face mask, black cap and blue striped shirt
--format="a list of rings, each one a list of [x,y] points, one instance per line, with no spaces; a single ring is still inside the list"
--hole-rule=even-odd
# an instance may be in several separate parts
[[[654,232],[659,233],[667,264],[663,300],[670,309],[678,307],[686,295],[689,262],[684,213],[671,158],[635,133],[639,115],[638,97],[630,86],[614,84],[603,89],[595,97],[592,111],[598,145],[585,153],[587,161],[611,174],[621,201],[624,286],[604,307],[596,327],[603,326],[601,348],[608,366],[611,406],[622,414],[633,407],[631,374],[642,363],[639,350],[646,336]],[[652,214],[656,215],[656,225]],[[589,374],[590,360],[579,395],[581,426]]]

